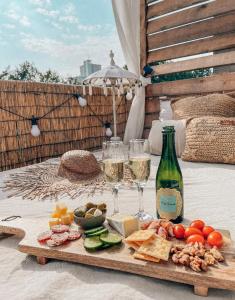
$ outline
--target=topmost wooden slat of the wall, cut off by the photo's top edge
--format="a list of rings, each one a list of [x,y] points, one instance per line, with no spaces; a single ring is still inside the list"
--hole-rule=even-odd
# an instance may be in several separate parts
[[[193,4],[200,2],[205,2],[205,0],[166,0],[153,5],[150,5],[148,8],[147,18],[164,15],[174,10],[178,10]]]

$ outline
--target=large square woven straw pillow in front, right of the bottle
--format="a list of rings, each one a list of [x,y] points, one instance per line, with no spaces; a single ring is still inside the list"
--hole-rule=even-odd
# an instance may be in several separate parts
[[[235,118],[201,117],[189,120],[181,158],[235,164]]]

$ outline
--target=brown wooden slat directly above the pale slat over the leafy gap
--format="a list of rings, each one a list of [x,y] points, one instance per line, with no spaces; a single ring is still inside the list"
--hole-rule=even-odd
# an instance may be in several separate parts
[[[147,63],[235,47],[235,31],[148,53]]]

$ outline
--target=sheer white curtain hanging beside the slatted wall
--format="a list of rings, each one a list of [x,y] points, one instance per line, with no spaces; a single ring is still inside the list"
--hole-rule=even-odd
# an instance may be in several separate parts
[[[128,70],[141,75],[140,70],[140,1],[112,0],[117,32]],[[145,88],[139,88],[128,116],[124,143],[141,138],[145,116]]]

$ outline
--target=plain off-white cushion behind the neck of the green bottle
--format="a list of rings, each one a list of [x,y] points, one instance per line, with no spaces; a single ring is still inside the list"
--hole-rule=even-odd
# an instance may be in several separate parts
[[[164,126],[175,126],[175,148],[178,157],[181,156],[185,147],[185,127],[186,120],[153,121],[149,133],[149,143],[152,154],[162,153],[162,128]]]

